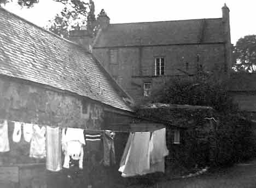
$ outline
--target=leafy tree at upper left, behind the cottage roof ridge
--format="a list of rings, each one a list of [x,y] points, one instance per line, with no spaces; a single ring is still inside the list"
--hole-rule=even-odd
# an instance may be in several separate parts
[[[53,20],[49,20],[46,29],[55,34],[69,38],[69,30],[79,29],[87,23],[88,30],[93,33],[96,27],[95,5],[92,0],[89,3],[83,0],[53,0],[65,5],[61,13],[56,14]],[[13,0],[0,0],[1,4],[13,2]],[[21,7],[32,8],[39,0],[18,0]],[[90,9],[88,13],[88,9]]]

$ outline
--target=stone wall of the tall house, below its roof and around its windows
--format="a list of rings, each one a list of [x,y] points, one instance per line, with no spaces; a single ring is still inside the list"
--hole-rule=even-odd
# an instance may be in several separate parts
[[[101,62],[104,62],[103,66],[137,101],[139,101],[138,96],[143,96],[144,80],[149,79],[149,81],[152,81],[159,78],[153,77],[155,57],[165,57],[167,77],[173,75],[184,76],[184,73],[178,69],[185,70],[190,74],[196,73],[197,54],[199,55],[199,63],[202,64],[203,70],[221,75],[224,73],[225,69],[224,44],[114,48],[118,50],[117,56],[119,63],[118,70],[115,70],[114,73],[109,62],[110,49],[111,48],[96,48],[94,49],[94,55]]]

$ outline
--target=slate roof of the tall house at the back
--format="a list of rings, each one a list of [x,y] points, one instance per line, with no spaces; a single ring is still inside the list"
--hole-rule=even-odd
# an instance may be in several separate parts
[[[223,43],[222,18],[110,24],[94,48]]]

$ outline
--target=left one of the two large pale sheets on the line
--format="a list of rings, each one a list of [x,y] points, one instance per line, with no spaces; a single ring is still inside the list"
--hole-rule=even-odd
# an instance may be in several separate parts
[[[123,177],[146,174],[150,169],[149,141],[150,132],[136,132],[127,142],[130,148],[127,152],[124,166],[119,168]],[[126,153],[126,151],[125,151]],[[123,159],[124,161],[124,159]]]

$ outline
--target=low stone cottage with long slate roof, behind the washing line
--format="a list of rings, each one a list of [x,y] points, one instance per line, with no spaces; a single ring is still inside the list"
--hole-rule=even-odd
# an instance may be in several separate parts
[[[133,115],[131,97],[82,46],[3,8],[0,33],[0,121],[8,121],[10,140],[10,151],[0,153],[1,182],[46,186],[44,159],[30,158],[26,144],[11,142],[13,121],[91,130],[148,128]],[[117,135],[117,157],[122,139]],[[48,177],[57,186],[56,174]]]

